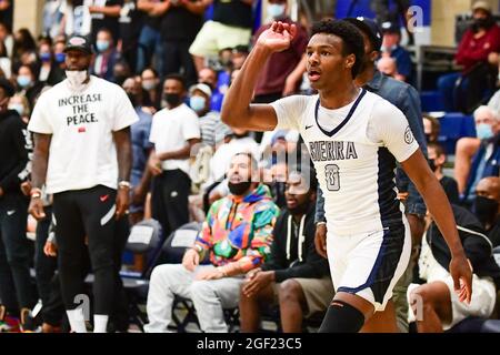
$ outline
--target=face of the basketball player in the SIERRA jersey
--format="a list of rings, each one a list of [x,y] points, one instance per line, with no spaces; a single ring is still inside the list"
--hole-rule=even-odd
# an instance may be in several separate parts
[[[333,34],[317,33],[309,40],[307,70],[312,89],[333,89],[338,80],[344,80],[350,55],[342,54],[342,39]],[[350,68],[348,70],[350,72]]]

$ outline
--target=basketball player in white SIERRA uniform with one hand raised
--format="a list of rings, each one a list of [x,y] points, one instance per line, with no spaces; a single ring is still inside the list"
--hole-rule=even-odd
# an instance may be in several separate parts
[[[410,231],[396,199],[396,161],[413,181],[453,255],[449,271],[462,302],[472,274],[451,207],[423,158],[404,115],[353,83],[363,39],[346,21],[314,24],[307,48],[317,95],[250,104],[259,70],[287,50],[296,28],[276,22],[263,32],[231,84],[222,121],[241,129],[294,129],[302,135],[324,191],[327,252],[336,296],[320,332],[397,332],[392,288],[410,257]]]

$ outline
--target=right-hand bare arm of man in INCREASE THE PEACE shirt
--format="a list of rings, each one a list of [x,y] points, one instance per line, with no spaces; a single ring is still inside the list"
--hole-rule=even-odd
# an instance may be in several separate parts
[[[126,126],[113,133],[117,146],[118,181],[129,181],[132,170],[132,143],[130,139],[130,126]],[[121,217],[129,207],[129,189],[119,186],[117,193],[117,219]]]

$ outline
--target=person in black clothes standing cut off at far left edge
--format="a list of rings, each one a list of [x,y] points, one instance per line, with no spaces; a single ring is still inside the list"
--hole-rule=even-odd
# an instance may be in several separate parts
[[[0,322],[7,313],[20,315],[23,331],[33,331],[30,310],[36,298],[30,280],[30,244],[26,237],[28,199],[20,173],[29,162],[26,124],[8,110],[12,85],[0,79]]]

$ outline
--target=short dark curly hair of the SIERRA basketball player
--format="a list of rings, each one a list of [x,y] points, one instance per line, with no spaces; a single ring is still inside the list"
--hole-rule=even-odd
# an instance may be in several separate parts
[[[356,57],[354,65],[351,68],[352,78],[356,78],[364,57],[364,40],[360,31],[344,20],[326,19],[312,26],[311,37],[317,33],[333,34],[342,39],[342,55],[354,54]]]

